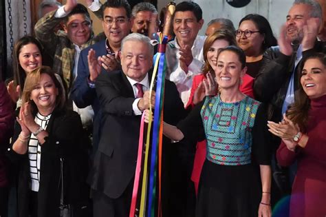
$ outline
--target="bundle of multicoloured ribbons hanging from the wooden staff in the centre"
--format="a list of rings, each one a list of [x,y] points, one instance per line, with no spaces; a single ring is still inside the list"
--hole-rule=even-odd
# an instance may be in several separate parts
[[[144,144],[144,114],[142,115],[142,120],[140,123],[140,138],[138,142],[138,158],[137,165],[135,169],[135,180],[133,183],[133,197],[131,200],[131,209],[129,212],[129,217],[135,217],[135,209],[137,205],[138,192],[140,188],[140,174],[142,174],[142,185],[141,185],[141,195],[140,195],[140,212],[139,216],[155,216],[155,198],[158,192],[157,198],[157,216],[162,216],[161,207],[161,174],[162,174],[162,135],[163,135],[163,104],[164,104],[164,61],[165,61],[165,48],[168,41],[168,37],[162,37],[160,35],[160,45],[159,52],[154,59],[154,69],[150,84],[150,98],[151,90],[153,90],[154,83],[156,81],[156,92],[155,92],[155,110],[154,110],[154,121],[153,121],[153,136],[151,141],[151,125],[152,125],[152,109],[150,105],[150,116],[149,125],[147,127],[146,134],[146,149],[143,158],[143,144]],[[157,76],[156,76],[157,74]],[[151,151],[151,161],[149,164],[149,152]],[[158,152],[158,155],[157,155]],[[158,161],[158,191],[156,189],[157,180],[157,161]],[[143,168],[142,165],[143,164]],[[142,168],[142,169],[141,169]],[[150,169],[150,170],[149,170]],[[148,185],[149,184],[149,185]],[[147,194],[148,193],[148,194]],[[146,203],[146,199],[148,201]],[[146,211],[147,205],[147,211]]]

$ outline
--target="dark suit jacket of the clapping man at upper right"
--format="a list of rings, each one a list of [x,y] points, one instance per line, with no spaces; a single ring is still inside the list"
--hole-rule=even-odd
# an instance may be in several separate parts
[[[293,46],[298,50],[298,46]],[[307,56],[314,52],[326,51],[326,42],[316,41],[314,48],[302,52],[302,59],[294,73],[294,91],[298,90],[301,75],[301,63]],[[270,103],[268,109],[268,119],[279,122],[282,119],[282,106],[284,103],[287,87],[290,83],[294,63],[296,61],[296,52],[291,56],[286,56],[279,51],[279,46],[269,48],[263,54],[263,65],[254,81],[254,96],[258,101]],[[295,94],[295,92],[294,92]]]

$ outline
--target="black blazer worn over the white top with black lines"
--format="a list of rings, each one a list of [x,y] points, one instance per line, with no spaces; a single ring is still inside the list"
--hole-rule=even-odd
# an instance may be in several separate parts
[[[65,202],[73,205],[87,203],[89,197],[86,177],[88,172],[87,141],[83,138],[80,116],[68,110],[54,110],[46,131],[49,136],[41,146],[41,172],[38,193],[38,216],[59,216],[60,158],[65,158],[63,177]],[[21,132],[15,123],[12,145]],[[13,163],[19,165],[18,207],[19,217],[28,217],[30,203],[30,162],[28,153],[17,154],[9,150]]]

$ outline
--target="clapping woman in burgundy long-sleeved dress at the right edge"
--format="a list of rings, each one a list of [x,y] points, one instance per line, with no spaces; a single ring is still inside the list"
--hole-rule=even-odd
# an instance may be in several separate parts
[[[303,61],[301,87],[282,123],[269,122],[270,132],[282,138],[277,161],[297,161],[290,216],[326,214],[326,55],[313,54]]]

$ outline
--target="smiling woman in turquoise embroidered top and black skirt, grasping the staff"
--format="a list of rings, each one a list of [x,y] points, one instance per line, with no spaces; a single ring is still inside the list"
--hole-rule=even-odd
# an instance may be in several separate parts
[[[271,216],[267,119],[263,105],[239,91],[245,64],[240,48],[221,48],[215,68],[220,94],[214,96],[208,74],[206,99],[177,127],[164,123],[164,135],[175,141],[206,137],[196,216]]]

